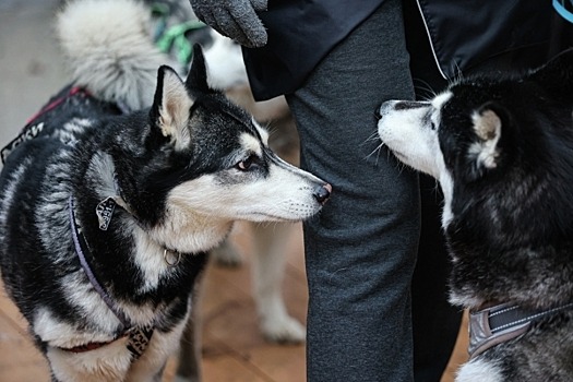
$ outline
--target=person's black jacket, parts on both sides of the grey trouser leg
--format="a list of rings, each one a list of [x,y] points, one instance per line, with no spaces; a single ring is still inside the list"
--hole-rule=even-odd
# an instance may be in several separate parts
[[[268,11],[260,13],[268,44],[243,49],[255,98],[299,88],[317,63],[382,2],[268,0]],[[535,68],[572,41],[571,24],[549,0],[404,0],[404,9],[414,76],[431,68],[451,80],[488,62],[498,69]],[[422,55],[425,49],[429,55]]]

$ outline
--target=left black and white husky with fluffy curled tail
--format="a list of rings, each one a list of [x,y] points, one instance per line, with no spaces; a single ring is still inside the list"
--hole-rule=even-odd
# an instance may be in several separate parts
[[[76,81],[2,151],[2,278],[57,381],[158,380],[232,222],[306,219],[331,192],[210,87],[199,47],[184,82],[159,67],[146,12],[69,3]]]

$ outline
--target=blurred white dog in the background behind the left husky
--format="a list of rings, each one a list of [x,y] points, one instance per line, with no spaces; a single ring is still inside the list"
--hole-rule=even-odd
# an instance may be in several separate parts
[[[187,52],[186,44],[175,44],[177,38],[180,41],[184,37],[186,43],[189,44],[200,43],[207,63],[211,87],[224,91],[232,102],[252,114],[256,121],[268,124],[272,130],[270,147],[280,157],[290,158],[291,163],[296,163],[293,160],[293,153],[298,152],[298,136],[286,100],[284,97],[276,97],[266,102],[254,102],[242,62],[240,45],[204,24],[199,27],[195,24],[199,21],[188,0],[146,0],[145,3],[150,9],[157,9],[157,5],[160,5],[162,12],[153,12],[155,16],[152,35],[170,59],[178,61],[174,67],[180,67],[180,72],[188,70],[188,65],[181,59],[181,56],[184,56],[181,53]],[[174,32],[178,32],[177,37],[174,36]],[[306,339],[303,324],[288,314],[283,297],[286,240],[291,237],[295,227],[289,223],[274,225],[241,223],[239,227],[239,229],[248,229],[251,234],[252,249],[249,254],[252,261],[252,296],[259,317],[259,327],[265,339],[280,344],[296,344]],[[238,266],[241,263],[240,251],[230,237],[211,251],[211,258],[213,263],[223,266]],[[195,314],[192,322],[195,323],[195,327],[189,327],[189,331],[194,333],[188,331],[186,337],[190,341],[181,343],[184,359],[190,359],[187,355],[192,353],[189,347],[193,343],[200,345],[201,342],[199,336],[201,312],[199,309],[193,312]],[[193,353],[199,353],[199,349]],[[186,367],[187,363],[182,362],[180,366]]]

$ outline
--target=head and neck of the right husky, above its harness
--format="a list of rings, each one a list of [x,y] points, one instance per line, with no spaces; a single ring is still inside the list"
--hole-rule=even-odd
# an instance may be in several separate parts
[[[572,68],[569,50],[524,76],[467,79],[380,108],[383,144],[441,184],[463,305],[571,296]]]

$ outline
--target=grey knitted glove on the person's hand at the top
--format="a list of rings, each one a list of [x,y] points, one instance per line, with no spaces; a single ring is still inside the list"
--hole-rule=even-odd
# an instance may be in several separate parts
[[[266,31],[256,11],[266,10],[267,0],[189,0],[193,12],[224,36],[248,48],[266,44]]]

